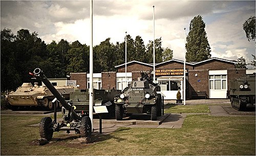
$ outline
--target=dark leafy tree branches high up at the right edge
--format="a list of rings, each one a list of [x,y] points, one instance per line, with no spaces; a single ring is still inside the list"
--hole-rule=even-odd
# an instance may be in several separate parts
[[[243,24],[243,29],[245,31],[248,41],[255,40],[255,16],[251,16]]]

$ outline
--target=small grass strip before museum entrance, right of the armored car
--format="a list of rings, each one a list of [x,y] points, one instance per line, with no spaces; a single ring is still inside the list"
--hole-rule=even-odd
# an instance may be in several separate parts
[[[176,104],[166,104],[164,113],[210,113],[210,109],[206,104],[197,105],[176,105]]]

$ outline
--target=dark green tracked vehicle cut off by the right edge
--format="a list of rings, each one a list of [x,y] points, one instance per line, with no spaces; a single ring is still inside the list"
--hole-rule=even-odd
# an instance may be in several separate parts
[[[232,80],[229,94],[234,109],[240,111],[245,110],[247,105],[255,105],[255,73]]]

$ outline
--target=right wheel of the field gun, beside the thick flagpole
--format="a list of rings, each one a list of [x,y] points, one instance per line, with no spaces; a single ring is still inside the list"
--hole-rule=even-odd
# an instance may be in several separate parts
[[[82,117],[80,135],[82,138],[91,137],[92,135],[92,123],[89,117]]]

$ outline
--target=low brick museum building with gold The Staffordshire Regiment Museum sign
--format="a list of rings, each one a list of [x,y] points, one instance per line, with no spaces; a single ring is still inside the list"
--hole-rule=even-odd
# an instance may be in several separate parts
[[[186,62],[186,99],[227,98],[229,81],[245,76],[246,69],[236,69],[237,61],[221,58],[210,58],[200,62]],[[131,61],[115,66],[117,72],[93,73],[93,87],[96,89],[123,90],[132,80],[140,77],[140,71],[153,71],[152,63]],[[255,72],[255,70],[254,70]],[[152,72],[153,73],[153,72]],[[161,87],[161,93],[166,100],[176,99],[177,92],[183,93],[183,61],[171,59],[156,63],[156,83]],[[87,73],[70,73],[70,80],[75,80],[80,88],[88,88],[91,82]],[[152,74],[153,76],[153,74]],[[183,94],[182,94],[183,95]],[[181,97],[183,99],[183,96]]]

